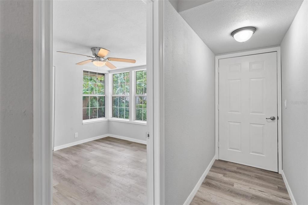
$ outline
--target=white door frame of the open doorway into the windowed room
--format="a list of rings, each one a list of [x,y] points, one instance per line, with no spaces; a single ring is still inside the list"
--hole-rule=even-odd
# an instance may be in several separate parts
[[[147,203],[164,203],[163,0],[147,3]],[[33,197],[52,204],[52,0],[33,2]],[[151,126],[152,125],[152,126]]]

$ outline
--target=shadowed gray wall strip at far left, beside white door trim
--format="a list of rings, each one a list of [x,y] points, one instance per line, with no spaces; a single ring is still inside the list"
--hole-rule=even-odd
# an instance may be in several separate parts
[[[0,1],[0,29],[0,203],[33,204],[33,1]]]

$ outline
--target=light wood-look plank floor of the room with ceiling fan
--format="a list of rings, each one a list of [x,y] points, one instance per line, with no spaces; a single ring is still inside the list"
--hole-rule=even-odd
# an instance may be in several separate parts
[[[147,203],[146,145],[106,137],[53,152],[53,204]]]

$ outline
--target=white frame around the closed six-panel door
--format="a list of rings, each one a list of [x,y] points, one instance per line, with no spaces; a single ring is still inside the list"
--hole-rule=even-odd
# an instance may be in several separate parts
[[[219,103],[219,74],[218,74],[218,61],[223,58],[233,58],[245,55],[254,55],[261,53],[269,53],[277,51],[277,109],[278,109],[278,173],[282,172],[282,116],[281,116],[281,60],[280,60],[280,46],[263,48],[257,50],[241,51],[231,54],[221,54],[215,56],[215,156],[219,159],[218,152],[218,138],[219,138],[219,114],[218,114],[218,103]]]

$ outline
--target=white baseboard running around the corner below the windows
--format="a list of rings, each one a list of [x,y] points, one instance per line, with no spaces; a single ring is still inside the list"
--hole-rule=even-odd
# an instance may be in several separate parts
[[[78,144],[90,142],[90,141],[93,141],[93,140],[96,140],[96,139],[105,138],[105,137],[113,137],[113,138],[117,138],[117,139],[128,140],[128,141],[135,142],[135,143],[147,144],[147,141],[145,141],[145,140],[133,139],[133,138],[130,138],[130,137],[124,137],[124,136],[119,136],[119,135],[106,134],[106,135],[100,135],[100,136],[91,137],[91,138],[88,138],[88,139],[79,140],[79,141],[72,142],[72,143],[63,144],[63,145],[55,147],[54,151],[64,149],[64,148],[67,148],[67,147],[72,147],[72,146],[75,146],[75,145],[78,145]]]

